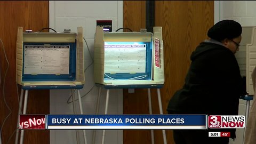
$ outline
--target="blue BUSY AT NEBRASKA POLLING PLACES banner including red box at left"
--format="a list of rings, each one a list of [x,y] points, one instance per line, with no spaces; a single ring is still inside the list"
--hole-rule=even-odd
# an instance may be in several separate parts
[[[206,115],[20,115],[19,129],[207,129]]]

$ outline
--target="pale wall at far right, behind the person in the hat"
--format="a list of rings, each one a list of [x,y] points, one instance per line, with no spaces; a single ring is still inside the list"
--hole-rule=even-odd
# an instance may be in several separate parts
[[[214,7],[215,23],[224,19],[232,19],[241,23],[242,27],[256,26],[256,1],[215,1]],[[239,115],[245,115],[245,109],[246,101],[240,100]],[[229,143],[243,143],[243,133],[244,129],[237,129],[237,138],[235,141],[230,140]]]

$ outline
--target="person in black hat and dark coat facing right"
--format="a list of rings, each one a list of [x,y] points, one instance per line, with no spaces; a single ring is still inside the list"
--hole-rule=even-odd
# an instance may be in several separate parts
[[[168,114],[238,115],[239,97],[246,94],[235,58],[241,42],[242,27],[234,20],[222,20],[212,26],[207,36],[191,54],[185,84],[174,93]],[[229,138],[209,137],[210,131],[236,129],[173,130],[176,144],[228,144]]]

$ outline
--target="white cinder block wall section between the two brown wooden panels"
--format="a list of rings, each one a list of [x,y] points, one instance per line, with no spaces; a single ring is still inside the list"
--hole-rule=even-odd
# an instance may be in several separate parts
[[[123,27],[123,1],[50,1],[49,2],[50,28],[63,32],[69,28],[77,33],[77,27],[83,27],[83,34],[89,46],[84,42],[85,61],[85,85],[81,90],[84,114],[95,114],[97,105],[98,87],[93,81],[93,42],[97,20],[112,20],[112,30]],[[91,91],[90,91],[91,90]],[[90,91],[90,92],[89,92]],[[88,94],[86,94],[89,92]],[[72,103],[67,103],[70,90],[50,91],[50,114],[73,114]],[[77,93],[76,99],[77,99]],[[86,95],[85,95],[86,94]],[[122,90],[110,90],[108,114],[123,114]],[[70,99],[71,101],[72,99]],[[101,90],[99,114],[105,112],[106,90]],[[76,101],[79,113],[78,101]],[[83,143],[82,131],[79,131],[79,143]],[[87,142],[92,143],[92,130],[86,130]],[[102,130],[97,130],[95,143],[101,143]],[[106,131],[105,143],[122,143],[123,132],[121,130]],[[50,143],[70,144],[76,143],[74,130],[51,130]]]

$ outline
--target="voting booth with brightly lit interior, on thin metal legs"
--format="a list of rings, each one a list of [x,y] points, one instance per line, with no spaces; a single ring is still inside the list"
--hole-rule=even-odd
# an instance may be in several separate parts
[[[94,39],[94,82],[99,87],[97,114],[101,89],[107,90],[105,114],[108,112],[111,89],[147,89],[150,114],[152,114],[150,89],[157,89],[159,111],[163,114],[160,93],[164,85],[162,27],[154,27],[154,34],[103,33],[103,27],[97,27]],[[163,130],[163,139],[164,143],[167,143],[165,130]],[[153,130],[151,130],[151,142],[154,143]],[[103,143],[105,143],[105,130],[102,134]]]

